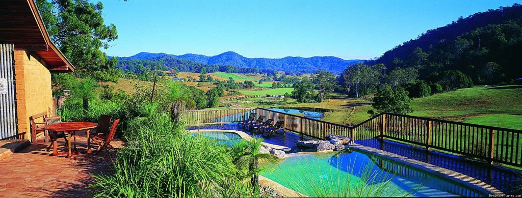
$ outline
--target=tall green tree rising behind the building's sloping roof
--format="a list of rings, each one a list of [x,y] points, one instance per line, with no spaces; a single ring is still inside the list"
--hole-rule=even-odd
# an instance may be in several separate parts
[[[88,76],[100,70],[109,79],[114,75],[115,58],[109,60],[101,48],[109,48],[109,42],[118,38],[116,26],[105,24],[103,4],[86,0],[36,0],[46,29],[60,51],[76,67],[79,75]],[[100,75],[98,75],[100,76]]]

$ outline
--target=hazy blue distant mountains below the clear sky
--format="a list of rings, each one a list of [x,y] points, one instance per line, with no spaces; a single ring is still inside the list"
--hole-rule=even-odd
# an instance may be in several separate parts
[[[334,56],[284,57],[284,58],[247,58],[235,52],[225,52],[216,56],[199,54],[169,55],[165,53],[141,52],[130,57],[116,57],[118,60],[144,60],[157,58],[176,58],[205,65],[232,65],[234,67],[249,67],[260,70],[272,69],[277,71],[310,72],[325,69],[333,73],[341,73],[348,65],[358,63],[359,59],[344,60]]]

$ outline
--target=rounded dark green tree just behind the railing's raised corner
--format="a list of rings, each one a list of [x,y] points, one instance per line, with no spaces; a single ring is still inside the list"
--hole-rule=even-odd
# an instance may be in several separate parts
[[[383,90],[379,90],[373,97],[372,107],[377,112],[370,114],[379,114],[382,112],[396,113],[396,114],[407,114],[413,112],[410,107],[411,98],[408,97],[408,92],[404,88],[392,89],[389,85],[386,85]]]

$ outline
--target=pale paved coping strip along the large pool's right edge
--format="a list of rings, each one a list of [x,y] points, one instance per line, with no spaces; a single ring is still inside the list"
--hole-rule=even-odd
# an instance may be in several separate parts
[[[364,146],[360,144],[351,144],[346,145],[347,148],[361,151],[366,154],[373,154],[376,156],[381,156],[387,159],[392,159],[397,162],[400,162],[402,164],[405,164],[407,166],[410,166],[412,168],[420,169],[422,171],[429,172],[430,174],[442,177],[444,179],[449,179],[457,183],[462,183],[468,187],[472,187],[476,190],[479,190],[482,193],[486,194],[495,194],[495,195],[505,195],[502,191],[496,189],[495,187],[491,186],[490,184],[487,184],[481,180],[472,178],[470,176],[461,174],[460,172],[456,172],[453,170],[449,170],[446,168],[442,168],[433,164],[425,163],[420,160],[412,159],[409,157],[405,157],[402,155],[397,155],[394,153],[390,153],[387,151],[375,149],[373,147]]]

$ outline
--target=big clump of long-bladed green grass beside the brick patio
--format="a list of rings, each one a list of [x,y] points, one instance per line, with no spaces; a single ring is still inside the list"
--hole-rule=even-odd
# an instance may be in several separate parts
[[[139,124],[136,124],[139,123]],[[94,176],[95,197],[258,197],[226,146],[184,132],[169,113],[131,122],[110,175]]]

